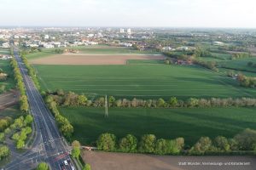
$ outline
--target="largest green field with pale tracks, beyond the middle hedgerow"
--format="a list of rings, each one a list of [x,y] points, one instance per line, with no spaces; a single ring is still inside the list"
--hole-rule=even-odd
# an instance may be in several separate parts
[[[218,73],[178,65],[35,65],[44,90],[63,89],[90,96],[124,98],[255,97]]]

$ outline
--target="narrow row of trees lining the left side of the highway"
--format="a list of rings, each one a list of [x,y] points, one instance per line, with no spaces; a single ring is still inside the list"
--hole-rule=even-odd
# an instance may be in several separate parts
[[[20,73],[18,63],[15,59],[11,59],[10,65],[14,69],[14,76],[16,81],[16,86],[20,91],[20,111],[27,112],[29,105],[26,97],[26,89],[23,82],[23,78]]]

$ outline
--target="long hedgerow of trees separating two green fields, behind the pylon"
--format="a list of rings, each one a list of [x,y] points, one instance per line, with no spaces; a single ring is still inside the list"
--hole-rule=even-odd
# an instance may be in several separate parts
[[[105,105],[105,98],[90,100],[84,94],[75,94],[68,92],[65,94],[62,90],[47,95],[48,103],[54,102],[51,105],[62,106],[93,106],[102,107]],[[256,99],[241,98],[241,99],[195,99],[187,100],[177,99],[172,97],[165,99],[115,99],[113,96],[108,97],[109,107],[147,107],[147,108],[177,108],[177,107],[229,107],[229,106],[256,106]]]

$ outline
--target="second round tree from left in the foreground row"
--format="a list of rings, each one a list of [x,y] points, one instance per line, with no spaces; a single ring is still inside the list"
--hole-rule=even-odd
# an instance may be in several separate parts
[[[119,141],[119,148],[124,152],[134,152],[137,150],[137,138],[132,134],[127,134]]]

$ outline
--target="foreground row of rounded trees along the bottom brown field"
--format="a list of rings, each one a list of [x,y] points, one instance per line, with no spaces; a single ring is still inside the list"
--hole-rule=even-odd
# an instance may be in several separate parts
[[[256,154],[256,131],[245,129],[234,138],[218,136],[215,139],[201,137],[192,147],[184,150],[184,139],[156,139],[154,134],[144,134],[138,142],[132,134],[119,139],[112,133],[102,133],[96,141],[97,148],[104,151],[129,153],[154,153],[157,155],[212,155],[247,152]]]

